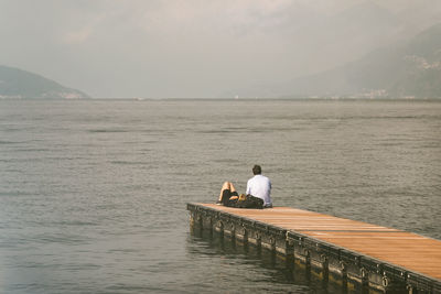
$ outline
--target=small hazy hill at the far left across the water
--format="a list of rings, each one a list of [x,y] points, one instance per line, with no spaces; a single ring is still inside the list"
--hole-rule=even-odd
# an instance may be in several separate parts
[[[19,68],[0,65],[0,99],[83,99],[86,94]]]

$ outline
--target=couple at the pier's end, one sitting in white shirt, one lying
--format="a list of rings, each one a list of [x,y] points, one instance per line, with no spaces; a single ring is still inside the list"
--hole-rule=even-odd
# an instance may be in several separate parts
[[[238,195],[233,183],[225,182],[220,189],[218,205],[237,208],[270,208],[271,203],[271,182],[261,175],[260,165],[252,167],[254,177],[248,179],[247,192]]]

